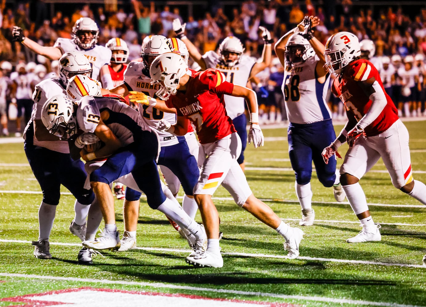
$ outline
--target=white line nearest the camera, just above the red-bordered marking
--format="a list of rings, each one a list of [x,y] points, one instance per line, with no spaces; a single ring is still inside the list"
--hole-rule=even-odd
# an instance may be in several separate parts
[[[190,287],[190,286],[181,286],[177,284],[164,284],[161,282],[127,282],[124,280],[91,279],[91,278],[75,278],[75,277],[60,277],[60,276],[40,276],[40,275],[34,275],[34,274],[16,274],[16,273],[0,273],[0,276],[21,277],[21,278],[30,278],[30,279],[44,279],[44,280],[61,280],[61,281],[67,281],[67,282],[95,282],[99,284],[124,284],[124,285],[135,285],[135,286],[141,286],[141,287],[155,287],[155,288],[165,288],[165,289],[225,293],[230,295],[258,296],[258,297],[263,296],[263,297],[271,297],[271,298],[279,298],[279,299],[296,299],[296,300],[305,300],[305,301],[322,301],[322,302],[337,303],[337,304],[354,304],[358,306],[368,305],[368,306],[385,306],[385,307],[420,307],[420,306],[407,305],[407,304],[396,304],[396,303],[376,302],[376,301],[360,301],[360,300],[352,300],[352,299],[339,299],[339,298],[331,298],[331,297],[325,297],[325,296],[285,295],[285,294],[267,293],[267,292],[228,290],[228,289],[220,289],[220,288],[215,289],[215,288],[205,288],[205,287]]]

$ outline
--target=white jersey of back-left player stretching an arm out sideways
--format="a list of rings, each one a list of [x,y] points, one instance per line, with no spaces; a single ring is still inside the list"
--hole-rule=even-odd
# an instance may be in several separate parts
[[[93,73],[92,78],[99,80],[99,72],[101,71],[102,66],[108,65],[111,60],[112,52],[109,48],[101,45],[95,45],[92,49],[81,49],[74,42],[74,39],[68,38],[58,38],[53,47],[57,47],[62,50],[62,54],[69,51],[81,51],[87,59],[89,59],[90,64],[92,64]]]

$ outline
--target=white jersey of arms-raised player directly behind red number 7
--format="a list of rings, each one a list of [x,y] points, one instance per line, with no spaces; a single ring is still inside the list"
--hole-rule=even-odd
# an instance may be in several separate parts
[[[203,59],[206,63],[206,68],[220,70],[225,74],[227,82],[244,87],[247,85],[248,77],[250,76],[253,65],[256,64],[255,59],[243,54],[237,64],[233,67],[229,67],[227,65],[223,65],[221,56],[215,51],[207,51],[203,55]],[[237,116],[244,114],[245,100],[243,97],[224,95],[224,98],[226,113],[230,118],[234,119]]]

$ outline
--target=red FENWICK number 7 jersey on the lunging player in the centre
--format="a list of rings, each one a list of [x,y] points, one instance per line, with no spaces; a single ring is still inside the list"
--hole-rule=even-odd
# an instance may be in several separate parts
[[[223,99],[232,93],[234,85],[225,81],[223,73],[211,68],[193,72],[186,87],[186,92],[178,90],[166,104],[176,108],[178,116],[193,122],[201,144],[213,143],[236,132]]]

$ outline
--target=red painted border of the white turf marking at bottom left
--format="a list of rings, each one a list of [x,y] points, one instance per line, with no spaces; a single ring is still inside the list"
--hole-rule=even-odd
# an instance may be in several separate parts
[[[34,294],[26,294],[23,296],[14,296],[14,297],[8,297],[4,299],[0,299],[0,301],[7,301],[7,302],[20,302],[20,303],[26,303],[26,304],[20,304],[20,305],[13,305],[9,307],[43,307],[43,306],[51,306],[51,305],[63,305],[63,304],[69,304],[69,303],[63,303],[59,301],[39,301],[35,299],[31,299],[35,296],[45,296],[45,295],[55,295],[55,294],[61,294],[61,293],[71,293],[71,292],[79,292],[82,290],[92,290],[92,291],[99,291],[99,292],[115,292],[115,293],[129,293],[129,294],[139,294],[139,295],[149,295],[149,296],[168,296],[168,297],[182,297],[187,299],[203,299],[203,300],[209,300],[209,301],[229,301],[229,302],[235,302],[235,303],[242,303],[242,304],[256,304],[259,306],[268,306],[268,307],[296,307],[300,305],[295,304],[288,304],[288,303],[269,303],[269,302],[263,302],[263,301],[242,301],[238,299],[211,299],[204,296],[198,296],[198,295],[188,295],[188,294],[180,294],[180,293],[159,293],[159,292],[145,292],[145,291],[128,291],[128,290],[118,290],[118,289],[104,289],[104,288],[92,288],[92,287],[81,287],[81,288],[70,288],[70,289],[63,289],[63,290],[55,290],[55,291],[48,291],[43,293],[34,293]]]

